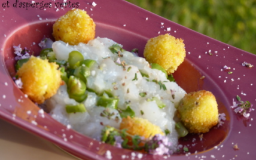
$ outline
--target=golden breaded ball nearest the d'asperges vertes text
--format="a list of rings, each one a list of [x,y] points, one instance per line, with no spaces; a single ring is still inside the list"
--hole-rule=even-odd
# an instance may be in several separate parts
[[[73,9],[53,24],[53,36],[70,45],[87,43],[95,38],[95,23],[86,11]]]

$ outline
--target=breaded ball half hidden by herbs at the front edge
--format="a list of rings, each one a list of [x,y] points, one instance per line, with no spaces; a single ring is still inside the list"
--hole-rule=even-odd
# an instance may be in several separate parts
[[[120,124],[120,130],[123,129],[127,129],[127,133],[129,134],[142,136],[146,139],[156,134],[164,135],[160,127],[152,124],[147,119],[138,117],[130,118],[130,116],[127,116],[127,118],[123,118]]]

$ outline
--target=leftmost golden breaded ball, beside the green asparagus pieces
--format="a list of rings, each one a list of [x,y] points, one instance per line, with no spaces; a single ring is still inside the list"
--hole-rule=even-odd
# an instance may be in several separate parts
[[[62,82],[58,67],[56,63],[31,56],[17,72],[22,79],[23,93],[38,104],[56,94]]]

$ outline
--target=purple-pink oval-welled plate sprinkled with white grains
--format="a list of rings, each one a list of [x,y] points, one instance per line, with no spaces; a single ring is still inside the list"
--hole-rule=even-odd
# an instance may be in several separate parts
[[[111,151],[112,159],[121,159],[123,155],[130,158],[134,152],[132,150],[99,143],[69,130],[47,113],[38,113],[38,107],[12,81],[11,77],[15,75],[13,45],[21,44],[21,47],[27,47],[38,54],[38,42],[44,36],[52,38],[51,27],[54,21],[71,10],[68,6],[63,9],[54,8],[58,2],[63,1],[44,1],[44,4],[47,2],[51,2],[51,8],[45,5],[41,9],[28,7],[27,10],[26,7],[19,8],[19,4],[15,8],[14,2],[10,2],[9,8],[0,8],[0,118],[83,159],[106,159],[106,150]],[[93,2],[96,3],[95,7]],[[226,115],[225,124],[203,134],[203,140],[197,134],[180,139],[179,143],[188,146],[189,152],[170,157],[144,154],[142,159],[253,159],[256,144],[253,119],[256,113],[252,111],[249,119],[245,119],[236,115],[230,106],[236,95],[244,101],[255,103],[255,67],[242,66],[243,61],[256,64],[254,54],[194,32],[126,1],[95,0],[79,4],[79,8],[86,10],[96,22],[96,36],[111,38],[123,44],[126,50],[139,48],[140,56],[143,55],[147,40],[159,34],[170,33],[184,39],[187,56],[174,73],[177,83],[187,93],[211,91],[217,97],[219,112]],[[167,31],[169,27],[170,31]],[[231,67],[229,71],[232,74],[223,69],[225,65]],[[200,79],[202,76],[205,78]],[[28,114],[28,110],[31,114]],[[238,145],[239,150],[233,149],[234,144]],[[134,153],[138,155],[138,152]],[[137,156],[134,158],[139,159]]]

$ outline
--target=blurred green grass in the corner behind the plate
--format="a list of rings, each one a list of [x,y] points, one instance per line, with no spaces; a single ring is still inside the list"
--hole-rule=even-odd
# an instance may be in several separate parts
[[[255,0],[126,0],[218,41],[256,54]]]

